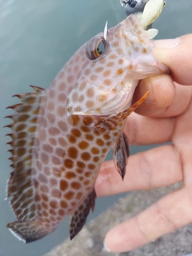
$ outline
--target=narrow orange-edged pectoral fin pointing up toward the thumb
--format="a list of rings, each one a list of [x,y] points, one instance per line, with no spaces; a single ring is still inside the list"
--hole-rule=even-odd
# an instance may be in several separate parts
[[[112,116],[110,116],[110,118],[103,118],[103,120],[100,120],[99,122],[97,122],[95,124],[95,126],[97,128],[101,128],[101,127],[106,127],[108,130],[113,130],[115,127],[118,126],[118,124],[122,121],[124,121],[128,115],[130,115],[134,110],[136,110],[138,108],[138,106],[140,106],[142,104],[142,102],[144,102],[146,100],[146,97],[150,94],[149,91],[146,92],[146,94],[144,94],[142,96],[142,98],[140,98],[138,100],[138,102],[135,102],[134,105],[130,106],[127,110],[123,110],[122,112],[119,112],[118,114],[113,114]]]

